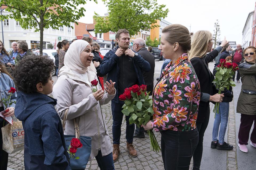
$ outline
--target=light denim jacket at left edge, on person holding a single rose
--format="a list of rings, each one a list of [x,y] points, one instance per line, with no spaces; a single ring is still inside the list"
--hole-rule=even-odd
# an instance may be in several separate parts
[[[13,80],[7,74],[1,73],[1,77],[0,77],[1,99],[3,99],[3,98],[6,99],[11,94],[8,92],[11,87],[15,88]],[[11,101],[16,101],[16,99],[17,99],[17,92],[15,92],[11,96]],[[4,109],[6,109],[5,106],[3,106],[3,107],[4,107]],[[13,103],[9,107],[15,108],[15,104]]]

